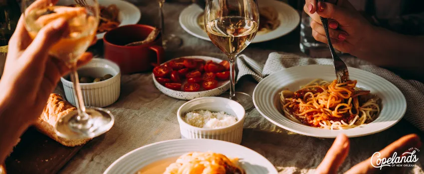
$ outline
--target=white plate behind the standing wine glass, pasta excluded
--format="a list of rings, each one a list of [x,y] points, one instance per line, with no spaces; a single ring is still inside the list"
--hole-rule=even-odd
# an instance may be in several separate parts
[[[299,25],[299,12],[287,3],[278,0],[259,0],[258,5],[259,7],[274,7],[278,11],[280,25],[276,29],[265,34],[257,34],[252,43],[265,42],[279,38],[290,33]],[[203,11],[204,9],[199,7],[199,5],[191,4],[180,13],[179,22],[181,27],[191,35],[210,41],[211,39],[209,39],[208,34],[198,24],[198,17]]]

